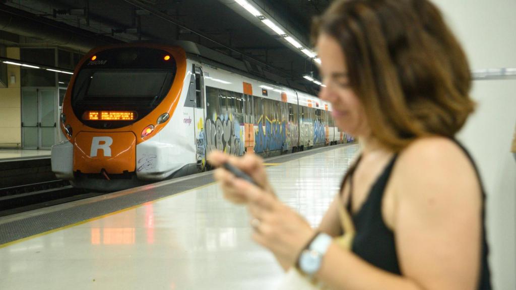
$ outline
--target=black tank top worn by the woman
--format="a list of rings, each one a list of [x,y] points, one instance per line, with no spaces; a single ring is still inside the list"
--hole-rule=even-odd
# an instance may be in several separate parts
[[[470,159],[470,162],[473,164],[482,191],[482,261],[481,273],[479,277],[480,281],[477,289],[491,290],[491,275],[487,261],[488,245],[486,241],[485,230],[486,195],[480,180],[480,175],[478,174],[477,167],[473,162],[471,155],[464,147],[462,147],[459,142],[455,142],[464,151],[464,153]],[[391,162],[389,162],[378,179],[375,181],[360,210],[357,213],[351,215],[354,227],[356,229],[356,235],[352,243],[352,251],[368,263],[378,268],[395,273],[397,275],[401,275],[398,264],[398,257],[396,255],[394,233],[386,226],[385,222],[383,221],[381,210],[383,192],[385,191],[385,187],[389,181],[396,159],[397,155],[392,158]],[[342,183],[341,192],[348,178],[350,181],[350,188],[352,190],[352,178],[350,177],[352,176],[353,171],[359,162],[360,157],[356,164],[348,170],[348,173],[346,174]],[[347,210],[349,213],[351,213],[351,197],[352,194],[350,192],[349,201],[347,203]]]

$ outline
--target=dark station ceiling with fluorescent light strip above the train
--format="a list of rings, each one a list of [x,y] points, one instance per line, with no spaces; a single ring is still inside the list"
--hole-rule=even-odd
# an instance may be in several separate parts
[[[311,47],[312,18],[330,4],[330,0],[248,1],[307,47]],[[3,25],[2,13],[4,19],[11,15],[31,25],[13,27],[12,21],[11,27]],[[41,31],[43,23],[92,41],[53,39],[56,34]],[[235,0],[0,0],[0,41],[7,45],[58,45],[85,53],[97,44],[137,40],[193,41],[237,59],[252,59],[294,87],[318,89],[302,78],[310,72],[317,75],[314,61],[285,44]]]

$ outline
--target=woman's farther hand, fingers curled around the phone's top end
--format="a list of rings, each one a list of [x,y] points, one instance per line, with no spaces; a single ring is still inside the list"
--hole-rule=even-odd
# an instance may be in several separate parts
[[[208,162],[213,166],[221,166],[224,163],[230,163],[234,167],[249,174],[251,178],[258,184],[265,194],[275,196],[272,187],[267,181],[267,174],[263,165],[263,159],[252,154],[247,153],[243,157],[236,157],[224,154],[220,151],[213,151],[208,154]],[[235,188],[234,182],[238,180],[235,176],[223,169],[218,168],[213,173],[215,180],[220,182],[220,186],[224,192],[224,198],[236,204],[247,203],[247,198],[243,195],[243,191]]]

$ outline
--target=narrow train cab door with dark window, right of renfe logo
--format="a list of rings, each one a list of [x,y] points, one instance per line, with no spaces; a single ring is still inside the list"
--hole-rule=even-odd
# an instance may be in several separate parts
[[[204,170],[206,165],[206,132],[205,125],[205,89],[204,74],[202,67],[193,65],[193,75],[195,76],[195,107],[193,108],[193,120],[195,120],[195,141],[196,141],[196,158],[199,169]]]

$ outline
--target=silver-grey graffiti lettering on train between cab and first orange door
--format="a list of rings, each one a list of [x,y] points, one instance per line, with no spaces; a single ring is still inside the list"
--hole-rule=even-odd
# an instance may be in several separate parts
[[[206,119],[206,152],[224,151],[228,154],[244,154],[244,143],[240,138],[240,123],[228,116]]]

